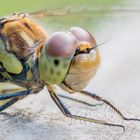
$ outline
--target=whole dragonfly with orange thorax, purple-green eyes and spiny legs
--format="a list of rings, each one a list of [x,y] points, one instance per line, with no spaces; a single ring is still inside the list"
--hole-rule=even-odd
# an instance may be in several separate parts
[[[16,13],[0,19],[0,82],[20,87],[0,90],[0,111],[30,94],[37,94],[46,86],[52,100],[66,117],[125,130],[120,124],[72,114],[60,100],[62,96],[57,94],[56,87],[60,87],[70,94],[76,93],[103,102],[123,120],[140,121],[125,117],[106,99],[84,90],[100,64],[98,45],[89,31],[71,27],[68,32],[47,35],[44,28],[32,19],[68,13],[71,11]],[[75,101],[90,105],[78,99]]]

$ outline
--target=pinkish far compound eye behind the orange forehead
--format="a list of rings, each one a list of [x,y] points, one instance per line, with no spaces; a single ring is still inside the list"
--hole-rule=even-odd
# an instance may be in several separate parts
[[[96,45],[96,40],[94,37],[86,30],[80,28],[80,27],[71,27],[70,32],[82,42],[88,42],[93,47]]]

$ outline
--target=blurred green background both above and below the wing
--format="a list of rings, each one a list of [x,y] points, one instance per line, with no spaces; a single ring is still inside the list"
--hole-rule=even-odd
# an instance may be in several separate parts
[[[42,23],[45,23],[45,28],[48,28],[47,32],[49,33],[57,30],[68,30],[71,26],[80,26],[87,30],[98,30],[100,26],[102,26],[102,21],[106,18],[110,18],[110,16],[106,16],[107,13],[105,11],[99,10],[95,12],[94,8],[111,8],[118,3],[119,0],[5,0],[0,3],[0,16],[16,12],[30,13],[40,10],[63,9],[67,7],[70,7],[75,11],[83,8],[82,13],[40,18],[39,20],[42,21]]]

